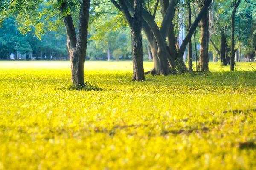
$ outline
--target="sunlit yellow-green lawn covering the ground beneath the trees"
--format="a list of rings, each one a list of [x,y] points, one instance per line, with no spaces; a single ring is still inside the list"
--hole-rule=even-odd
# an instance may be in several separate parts
[[[255,169],[248,65],[132,82],[131,62],[86,62],[76,89],[69,62],[0,62],[0,170]]]

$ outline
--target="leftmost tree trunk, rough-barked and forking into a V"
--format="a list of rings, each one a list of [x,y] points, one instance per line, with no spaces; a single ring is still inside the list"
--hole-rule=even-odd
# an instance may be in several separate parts
[[[63,14],[67,7],[64,0],[61,3],[60,11]],[[82,0],[79,12],[78,33],[76,31],[71,15],[63,16],[67,33],[67,47],[71,62],[71,83],[73,85],[84,85],[84,61],[87,49],[87,33],[89,20],[90,0]]]

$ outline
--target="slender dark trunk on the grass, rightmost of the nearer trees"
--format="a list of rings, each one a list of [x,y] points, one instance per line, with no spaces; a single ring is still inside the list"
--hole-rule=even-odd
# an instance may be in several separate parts
[[[232,20],[231,20],[231,57],[230,57],[230,71],[234,71],[235,65],[235,15],[236,9],[239,6],[240,0],[235,3],[236,0],[233,0],[233,12],[232,12]]]

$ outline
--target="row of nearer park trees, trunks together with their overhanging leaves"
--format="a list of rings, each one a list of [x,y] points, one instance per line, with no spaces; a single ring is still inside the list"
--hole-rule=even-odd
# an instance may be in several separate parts
[[[33,2],[33,3],[32,3]],[[2,1],[3,3],[3,1]],[[30,4],[27,4],[30,3]],[[230,70],[234,69],[235,56],[235,32],[239,34],[237,42],[245,48],[250,46],[255,50],[255,6],[253,2],[243,0],[57,0],[47,2],[43,0],[11,0],[4,7],[17,14],[18,22],[23,22],[21,32],[28,32],[34,26],[40,35],[44,24],[49,24],[49,18],[55,17],[55,30],[61,28],[62,18],[67,34],[67,47],[71,61],[71,81],[76,85],[84,84],[84,61],[87,51],[87,34],[94,31],[92,35],[95,42],[104,40],[104,34],[108,34],[109,26],[112,30],[129,26],[131,32],[131,52],[133,59],[133,80],[144,81],[143,70],[143,45],[142,30],[149,42],[154,61],[154,68],[147,74],[168,75],[172,72],[192,71],[192,37],[195,40],[197,30],[200,35],[200,52],[198,70],[208,71],[209,42],[220,55],[224,65],[230,55]],[[20,6],[17,6],[19,4]],[[47,10],[38,12],[40,4],[49,6]],[[241,9],[239,8],[239,5]],[[7,7],[8,6],[8,7]],[[31,15],[24,16],[22,11],[32,10]],[[115,7],[115,8],[114,8]],[[231,7],[231,8],[230,8]],[[23,8],[25,8],[23,10]],[[239,10],[239,15],[236,11]],[[31,13],[31,11],[29,11]],[[111,17],[107,17],[111,16]],[[32,19],[31,19],[32,18]],[[41,22],[38,22],[40,20]],[[90,26],[89,26],[90,20]],[[42,24],[44,23],[44,24]],[[238,27],[235,25],[239,26]],[[247,23],[250,26],[242,28]],[[240,27],[241,26],[241,27]],[[182,27],[187,28],[186,35],[183,31],[183,40],[178,39]],[[248,33],[249,32],[249,33]],[[194,35],[194,36],[193,36]],[[219,36],[221,35],[221,36]],[[249,37],[252,35],[251,37]],[[89,34],[90,36],[90,34]],[[90,38],[92,38],[90,37]],[[228,37],[231,37],[230,39]],[[90,40],[93,40],[90,39]],[[89,40],[89,43],[90,43]],[[107,49],[109,42],[105,41]],[[221,42],[219,44],[219,42]],[[178,45],[179,44],[179,45]],[[230,47],[229,45],[230,44]],[[254,45],[254,46],[253,46]],[[218,46],[221,46],[218,50]],[[183,57],[188,47],[188,68],[186,68]],[[196,49],[196,48],[195,48]],[[109,50],[107,50],[109,51]],[[196,52],[196,50],[195,50]],[[109,54],[109,53],[108,53]],[[109,55],[108,55],[109,56]],[[196,65],[197,66],[197,65]]]

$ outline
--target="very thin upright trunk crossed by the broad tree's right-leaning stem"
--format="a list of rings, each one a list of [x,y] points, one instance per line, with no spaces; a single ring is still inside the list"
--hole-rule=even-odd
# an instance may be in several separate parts
[[[187,0],[188,12],[189,12],[189,20],[188,20],[188,31],[191,27],[191,8],[190,8],[190,0]],[[193,71],[193,58],[192,58],[192,42],[191,38],[188,43],[188,65],[189,71]]]

